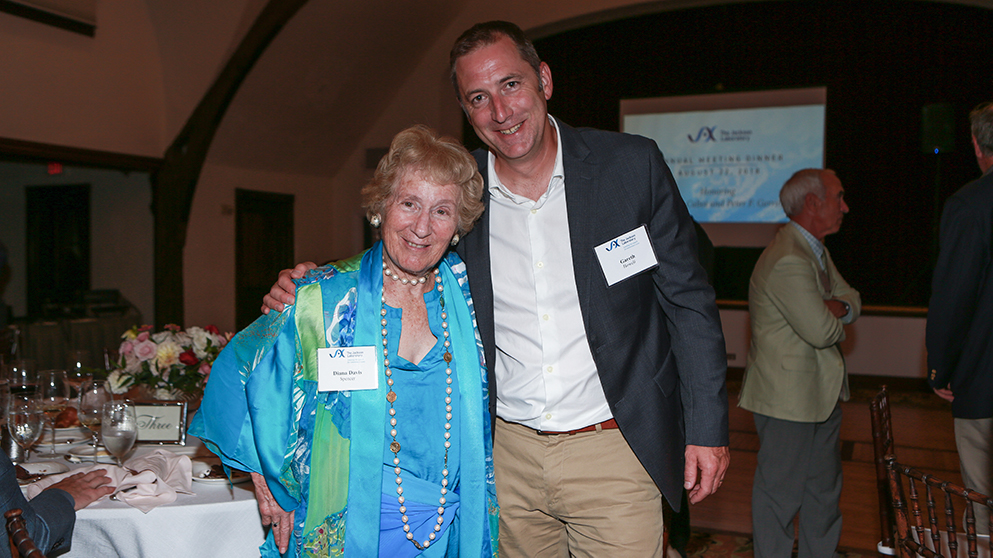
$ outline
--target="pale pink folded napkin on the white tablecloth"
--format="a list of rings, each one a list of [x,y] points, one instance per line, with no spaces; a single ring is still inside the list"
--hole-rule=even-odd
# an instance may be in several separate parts
[[[90,465],[73,469],[29,484],[25,487],[25,493],[30,500],[69,475],[105,469],[111,479],[110,485],[118,493],[117,499],[138,508],[142,513],[148,513],[156,506],[175,502],[177,494],[193,494],[193,465],[186,455],[156,449],[132,457],[124,462],[124,466],[125,469],[117,465]],[[137,471],[137,474],[132,473],[132,470]],[[124,490],[127,492],[123,492]]]

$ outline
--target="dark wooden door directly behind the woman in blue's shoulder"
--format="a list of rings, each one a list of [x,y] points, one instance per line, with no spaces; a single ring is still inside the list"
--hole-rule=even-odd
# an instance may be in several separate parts
[[[293,195],[235,190],[235,326],[259,317],[280,270],[293,266]]]

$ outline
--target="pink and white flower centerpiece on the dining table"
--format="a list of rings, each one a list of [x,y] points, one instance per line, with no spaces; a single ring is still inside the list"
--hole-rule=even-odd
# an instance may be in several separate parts
[[[212,325],[183,331],[169,324],[157,333],[150,325],[135,326],[121,338],[120,358],[107,376],[107,389],[121,394],[144,386],[156,399],[178,399],[203,393],[210,367],[231,334],[221,334]]]

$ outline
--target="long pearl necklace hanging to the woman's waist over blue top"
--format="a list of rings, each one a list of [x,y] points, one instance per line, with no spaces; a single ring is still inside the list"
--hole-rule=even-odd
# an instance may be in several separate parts
[[[383,273],[390,275],[389,271],[386,269],[386,263],[383,263]],[[397,277],[394,275],[394,279]],[[403,279],[406,283],[407,280]],[[421,277],[421,282],[424,282],[424,278]],[[390,442],[390,451],[393,452],[393,472],[397,476],[397,502],[400,504],[400,519],[403,521],[403,532],[407,535],[407,540],[414,543],[414,546],[418,550],[424,550],[431,546],[431,541],[437,537],[437,534],[441,531],[441,525],[445,522],[445,502],[447,501],[445,496],[448,494],[448,450],[452,447],[451,437],[452,437],[452,353],[449,351],[451,346],[451,341],[448,338],[448,313],[445,312],[445,288],[441,284],[441,277],[438,275],[438,270],[434,270],[434,282],[435,288],[438,290],[441,302],[441,329],[445,336],[445,467],[441,471],[441,498],[438,499],[438,522],[434,526],[434,531],[428,534],[428,540],[424,542],[418,542],[414,539],[414,534],[410,532],[410,525],[407,525],[407,506],[404,505],[403,497],[403,479],[400,477],[400,442],[397,442],[397,419],[396,419],[396,409],[393,408],[393,402],[397,400],[397,394],[393,391],[393,371],[390,370],[390,359],[389,351],[386,345],[386,294],[383,294],[382,303],[383,307],[380,310],[380,315],[382,320],[380,324],[383,326],[383,365],[386,369],[386,385],[389,386],[389,391],[386,393],[386,400],[390,403],[390,436],[393,441]]]

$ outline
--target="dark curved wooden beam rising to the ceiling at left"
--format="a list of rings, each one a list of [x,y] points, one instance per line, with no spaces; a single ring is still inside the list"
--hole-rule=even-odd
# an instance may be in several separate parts
[[[183,248],[207,150],[245,77],[307,0],[270,0],[201,99],[152,175],[155,216],[155,323],[183,325]]]

